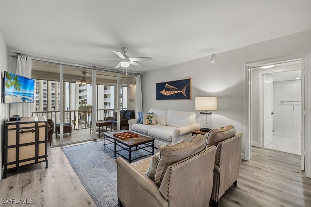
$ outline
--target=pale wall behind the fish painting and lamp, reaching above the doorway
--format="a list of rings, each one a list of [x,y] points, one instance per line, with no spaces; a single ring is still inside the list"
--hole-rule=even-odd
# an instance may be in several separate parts
[[[229,34],[228,34],[229,36]],[[181,43],[182,44],[182,43]],[[143,108],[195,111],[194,98],[218,97],[218,110],[213,112],[213,128],[232,124],[236,131],[246,133],[246,71],[245,64],[311,52],[311,30],[288,35],[232,51],[157,69],[143,74]],[[208,48],[208,45],[206,46]],[[186,50],[186,49],[185,49]],[[192,78],[192,100],[155,100],[155,83]],[[197,119],[199,111],[196,111]],[[198,122],[198,121],[197,121]],[[244,153],[244,136],[242,153]]]

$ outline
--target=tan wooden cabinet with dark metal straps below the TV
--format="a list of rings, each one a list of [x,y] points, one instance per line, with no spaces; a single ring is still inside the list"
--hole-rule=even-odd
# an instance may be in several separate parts
[[[4,126],[4,178],[9,170],[40,162],[48,167],[47,120],[22,117]]]

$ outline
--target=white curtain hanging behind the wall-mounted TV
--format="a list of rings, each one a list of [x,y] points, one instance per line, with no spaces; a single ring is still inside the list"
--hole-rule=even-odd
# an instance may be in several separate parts
[[[31,58],[30,57],[18,55],[15,74],[21,75],[27,78],[31,78]],[[32,103],[11,104],[10,116],[19,115],[21,117],[30,117],[31,116],[31,104]]]

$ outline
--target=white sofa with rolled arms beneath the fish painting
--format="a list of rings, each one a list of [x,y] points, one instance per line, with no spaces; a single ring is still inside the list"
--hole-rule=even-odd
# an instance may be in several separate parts
[[[194,112],[163,110],[151,108],[149,113],[156,114],[155,125],[136,123],[137,119],[128,121],[129,130],[147,137],[155,138],[155,147],[168,143],[176,144],[188,141],[191,131],[199,130],[200,124],[196,123]]]

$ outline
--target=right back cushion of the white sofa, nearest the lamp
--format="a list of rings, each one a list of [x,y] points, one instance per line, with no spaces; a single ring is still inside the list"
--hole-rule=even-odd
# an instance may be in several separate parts
[[[176,111],[169,109],[167,111],[166,124],[168,126],[181,127],[196,123],[196,114],[194,112]]]

